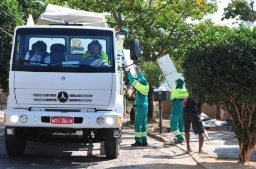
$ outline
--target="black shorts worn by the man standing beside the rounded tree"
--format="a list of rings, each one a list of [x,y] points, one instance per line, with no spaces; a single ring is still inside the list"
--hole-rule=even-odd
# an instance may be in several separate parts
[[[183,113],[184,132],[189,132],[191,123],[195,134],[204,133],[203,121],[200,115],[194,113]]]

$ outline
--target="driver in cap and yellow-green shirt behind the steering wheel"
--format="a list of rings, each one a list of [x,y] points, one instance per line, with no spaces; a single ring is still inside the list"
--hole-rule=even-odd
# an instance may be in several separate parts
[[[99,43],[98,40],[93,40],[92,42],[90,42],[90,44],[88,45],[88,50],[89,51],[86,51],[81,59],[98,56],[108,63],[108,55],[102,51],[102,45]]]

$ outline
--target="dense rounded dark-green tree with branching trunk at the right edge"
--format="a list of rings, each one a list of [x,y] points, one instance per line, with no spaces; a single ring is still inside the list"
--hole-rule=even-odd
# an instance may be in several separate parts
[[[256,146],[256,28],[207,22],[195,30],[182,65],[186,88],[194,99],[230,113],[239,158],[249,162]]]

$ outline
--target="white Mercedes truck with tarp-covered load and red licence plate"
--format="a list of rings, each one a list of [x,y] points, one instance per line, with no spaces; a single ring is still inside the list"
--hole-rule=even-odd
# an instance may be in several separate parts
[[[37,25],[15,28],[4,116],[9,156],[36,141],[104,142],[106,157],[118,157],[124,112],[118,35],[102,14],[53,5]],[[136,60],[139,42],[130,44]]]

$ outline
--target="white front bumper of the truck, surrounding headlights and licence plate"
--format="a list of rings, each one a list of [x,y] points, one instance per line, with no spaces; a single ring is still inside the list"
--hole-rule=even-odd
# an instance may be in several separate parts
[[[12,122],[11,117],[17,115],[19,118],[17,122]],[[20,121],[20,116],[26,115],[27,121],[22,123]],[[122,124],[122,117],[120,113],[110,112],[110,111],[99,111],[99,112],[45,112],[45,111],[29,111],[29,110],[7,110],[5,112],[6,122],[4,125],[7,127],[56,127],[56,128],[119,128]],[[82,118],[81,123],[73,124],[52,124],[51,121],[42,121],[42,117],[72,117],[72,118]],[[103,124],[97,124],[96,119],[98,117],[103,117],[104,119],[110,117],[113,118],[113,124],[107,124],[105,121]]]

